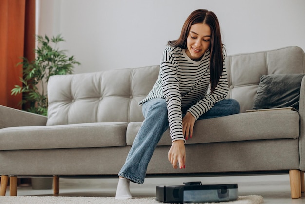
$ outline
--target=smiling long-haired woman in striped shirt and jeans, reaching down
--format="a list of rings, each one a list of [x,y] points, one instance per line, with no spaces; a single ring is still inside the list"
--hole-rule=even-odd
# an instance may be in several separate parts
[[[179,39],[168,42],[159,77],[139,102],[145,120],[118,174],[116,199],[132,198],[130,181],[143,184],[152,153],[168,127],[172,138],[168,159],[173,168],[182,169],[186,163],[184,143],[193,137],[196,120],[239,113],[238,102],[225,99],[224,53],[216,15],[203,9],[193,11]]]

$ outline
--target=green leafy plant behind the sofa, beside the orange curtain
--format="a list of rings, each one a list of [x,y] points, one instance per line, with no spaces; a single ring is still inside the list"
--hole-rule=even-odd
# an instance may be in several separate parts
[[[15,85],[11,90],[12,95],[23,93],[20,105],[29,106],[26,111],[47,115],[48,97],[47,83],[52,75],[72,74],[74,65],[80,65],[74,59],[74,56],[68,57],[66,50],[59,50],[57,44],[64,41],[61,35],[53,36],[36,36],[38,47],[34,50],[35,60],[28,61],[22,58],[23,78],[20,78],[22,86]]]

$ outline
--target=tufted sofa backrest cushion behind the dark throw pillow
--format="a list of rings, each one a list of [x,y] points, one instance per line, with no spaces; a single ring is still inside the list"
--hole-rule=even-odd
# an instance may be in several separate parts
[[[261,75],[305,73],[305,55],[300,47],[238,54],[225,60],[228,74],[227,98],[240,103],[240,112],[252,109]]]

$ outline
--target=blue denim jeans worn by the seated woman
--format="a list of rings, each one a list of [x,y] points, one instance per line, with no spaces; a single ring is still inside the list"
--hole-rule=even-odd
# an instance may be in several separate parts
[[[145,119],[134,139],[125,164],[118,174],[138,184],[144,183],[147,166],[152,154],[162,134],[169,128],[165,99],[151,99],[145,102],[142,112]],[[234,99],[225,99],[217,102],[214,107],[201,115],[198,120],[236,113],[239,113],[239,103]]]

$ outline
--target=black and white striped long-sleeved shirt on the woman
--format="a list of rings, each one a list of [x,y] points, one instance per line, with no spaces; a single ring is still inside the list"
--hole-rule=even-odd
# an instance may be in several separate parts
[[[209,50],[200,61],[191,60],[185,50],[179,47],[167,46],[163,52],[158,79],[147,97],[139,104],[154,98],[166,99],[172,142],[185,141],[182,130],[182,108],[186,108],[197,120],[228,94],[225,65],[215,91],[210,93],[209,66]]]

